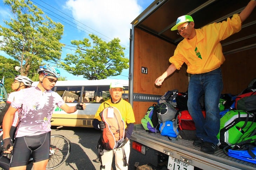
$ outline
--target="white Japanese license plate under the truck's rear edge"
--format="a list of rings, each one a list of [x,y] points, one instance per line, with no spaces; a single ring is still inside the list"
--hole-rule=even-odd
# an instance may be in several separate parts
[[[194,170],[194,166],[188,164],[187,162],[182,162],[176,158],[169,156],[168,166],[169,170]]]

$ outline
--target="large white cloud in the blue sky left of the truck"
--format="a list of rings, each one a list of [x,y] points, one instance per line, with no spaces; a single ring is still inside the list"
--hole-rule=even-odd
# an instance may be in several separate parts
[[[68,0],[65,7],[72,11],[75,20],[96,30],[98,33],[90,31],[97,36],[108,41],[119,38],[126,47],[129,47],[130,23],[142,11],[137,0]],[[88,27],[85,29],[89,30]]]

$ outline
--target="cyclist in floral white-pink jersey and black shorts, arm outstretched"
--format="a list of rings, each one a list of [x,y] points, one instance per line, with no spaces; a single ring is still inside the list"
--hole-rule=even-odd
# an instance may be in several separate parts
[[[60,95],[51,89],[60,77],[57,68],[48,65],[38,69],[39,84],[36,87],[22,89],[14,96],[3,121],[4,153],[12,151],[10,170],[26,170],[30,157],[33,158],[34,170],[46,169],[50,148],[50,119],[55,105],[66,113],[85,109],[85,103],[68,106]],[[9,130],[15,112],[19,109],[19,124],[16,130],[15,143],[11,141]]]

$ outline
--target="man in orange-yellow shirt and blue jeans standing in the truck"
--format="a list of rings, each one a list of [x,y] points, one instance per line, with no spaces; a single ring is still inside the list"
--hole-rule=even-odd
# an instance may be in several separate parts
[[[170,57],[171,65],[155,80],[157,86],[183,63],[188,65],[187,72],[191,74],[188,86],[188,111],[195,126],[197,140],[194,146],[201,146],[201,151],[214,154],[219,142],[216,135],[220,130],[220,110],[218,108],[223,89],[221,64],[225,61],[222,53],[221,40],[241,30],[242,22],[247,19],[255,8],[255,0],[251,0],[240,14],[234,14],[227,21],[212,23],[201,29],[195,29],[191,16],[178,17],[176,25],[171,30],[184,39],[177,45],[174,56]],[[204,119],[200,97],[205,94],[206,119]]]

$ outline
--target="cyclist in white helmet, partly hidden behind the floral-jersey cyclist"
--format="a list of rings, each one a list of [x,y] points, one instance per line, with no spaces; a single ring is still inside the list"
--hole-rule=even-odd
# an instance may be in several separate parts
[[[20,91],[23,88],[30,87],[32,85],[32,83],[33,83],[33,81],[26,76],[17,76],[14,78],[14,82],[12,83],[12,86],[11,86],[11,88],[12,88],[12,90],[14,90],[14,92],[10,93],[8,96],[8,99],[6,101],[6,106],[0,115],[0,125],[2,125],[4,115],[12,103],[15,93],[17,91]],[[15,112],[12,126],[10,129],[10,137],[11,137],[12,141],[14,140],[14,135],[16,132],[16,127],[18,125],[18,121],[19,121],[19,115],[18,115],[18,111],[17,111],[17,112]],[[3,137],[2,135],[3,135],[3,131],[1,131],[1,133],[0,133],[0,140],[2,140],[2,137]],[[10,160],[6,156],[4,156],[3,153],[1,153],[0,167],[7,170],[7,169],[9,169],[9,163],[10,163]]]

